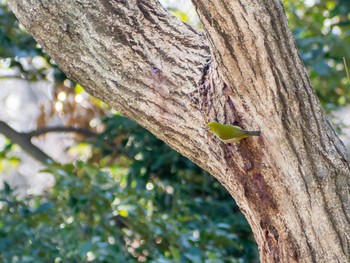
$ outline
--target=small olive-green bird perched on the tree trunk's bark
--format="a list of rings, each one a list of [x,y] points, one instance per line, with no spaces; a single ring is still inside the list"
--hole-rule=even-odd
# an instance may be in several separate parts
[[[211,121],[207,124],[208,129],[225,143],[238,143],[249,136],[259,136],[260,131],[246,131],[231,124],[221,124]]]

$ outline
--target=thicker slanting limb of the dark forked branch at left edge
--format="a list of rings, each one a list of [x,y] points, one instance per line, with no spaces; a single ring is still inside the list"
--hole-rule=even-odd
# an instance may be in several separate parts
[[[0,121],[0,133],[5,135],[15,144],[19,145],[25,152],[42,164],[50,164],[54,162],[50,156],[48,156],[30,141],[30,137],[28,135],[15,131],[3,121]]]

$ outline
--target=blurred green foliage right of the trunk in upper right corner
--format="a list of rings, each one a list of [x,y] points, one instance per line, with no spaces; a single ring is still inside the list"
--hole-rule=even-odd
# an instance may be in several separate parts
[[[301,58],[326,110],[350,103],[350,2],[347,0],[284,1]]]

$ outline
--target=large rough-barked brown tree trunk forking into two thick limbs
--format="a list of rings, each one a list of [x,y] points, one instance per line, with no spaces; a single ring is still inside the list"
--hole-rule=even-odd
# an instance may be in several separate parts
[[[226,187],[262,262],[348,262],[349,154],[282,4],[193,2],[206,37],[156,0],[9,1],[68,76]],[[205,129],[210,120],[262,135],[224,144]]]

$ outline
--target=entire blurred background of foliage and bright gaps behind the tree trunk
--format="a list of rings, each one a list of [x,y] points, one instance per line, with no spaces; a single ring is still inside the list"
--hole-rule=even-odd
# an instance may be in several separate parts
[[[189,0],[161,2],[201,28]],[[284,5],[317,95],[349,149],[350,1]],[[0,59],[1,262],[259,261],[225,189],[69,80],[5,0]]]

